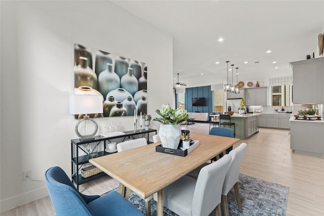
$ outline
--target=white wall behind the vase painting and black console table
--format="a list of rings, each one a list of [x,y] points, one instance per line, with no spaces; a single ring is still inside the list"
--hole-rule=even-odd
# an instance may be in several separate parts
[[[1,209],[46,196],[51,166],[70,174],[73,44],[148,65],[148,113],[172,104],[170,35],[107,1],[1,1]],[[158,81],[157,81],[158,80]],[[109,118],[110,119],[110,118]],[[103,121],[98,118],[99,132]],[[118,119],[119,120],[119,119]],[[132,117],[120,118],[126,130]],[[158,128],[156,122],[151,127]]]

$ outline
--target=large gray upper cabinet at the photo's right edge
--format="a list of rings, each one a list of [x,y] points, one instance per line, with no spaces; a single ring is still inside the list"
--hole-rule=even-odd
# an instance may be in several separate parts
[[[293,68],[293,103],[324,103],[324,57],[290,62]]]

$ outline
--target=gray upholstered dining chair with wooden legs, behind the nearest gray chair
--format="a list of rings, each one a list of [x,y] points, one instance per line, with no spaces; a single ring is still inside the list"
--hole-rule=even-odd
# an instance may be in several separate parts
[[[229,216],[229,209],[227,203],[227,194],[234,187],[235,198],[237,202],[238,211],[242,212],[241,198],[238,189],[238,174],[242,158],[247,149],[246,143],[241,143],[238,147],[229,152],[228,155],[232,157],[230,167],[226,173],[224,185],[222,189],[222,204],[225,216]]]

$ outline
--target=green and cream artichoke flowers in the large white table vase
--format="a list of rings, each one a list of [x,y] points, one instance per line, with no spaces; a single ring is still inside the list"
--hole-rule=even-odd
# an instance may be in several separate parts
[[[162,124],[179,124],[182,121],[186,121],[189,117],[186,110],[183,109],[171,109],[170,104],[163,104],[161,108],[155,110],[161,117],[154,118],[153,121],[161,122]]]

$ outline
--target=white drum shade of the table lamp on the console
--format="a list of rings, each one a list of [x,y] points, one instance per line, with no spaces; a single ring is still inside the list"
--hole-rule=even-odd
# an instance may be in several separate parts
[[[102,95],[71,95],[70,114],[103,113]]]

